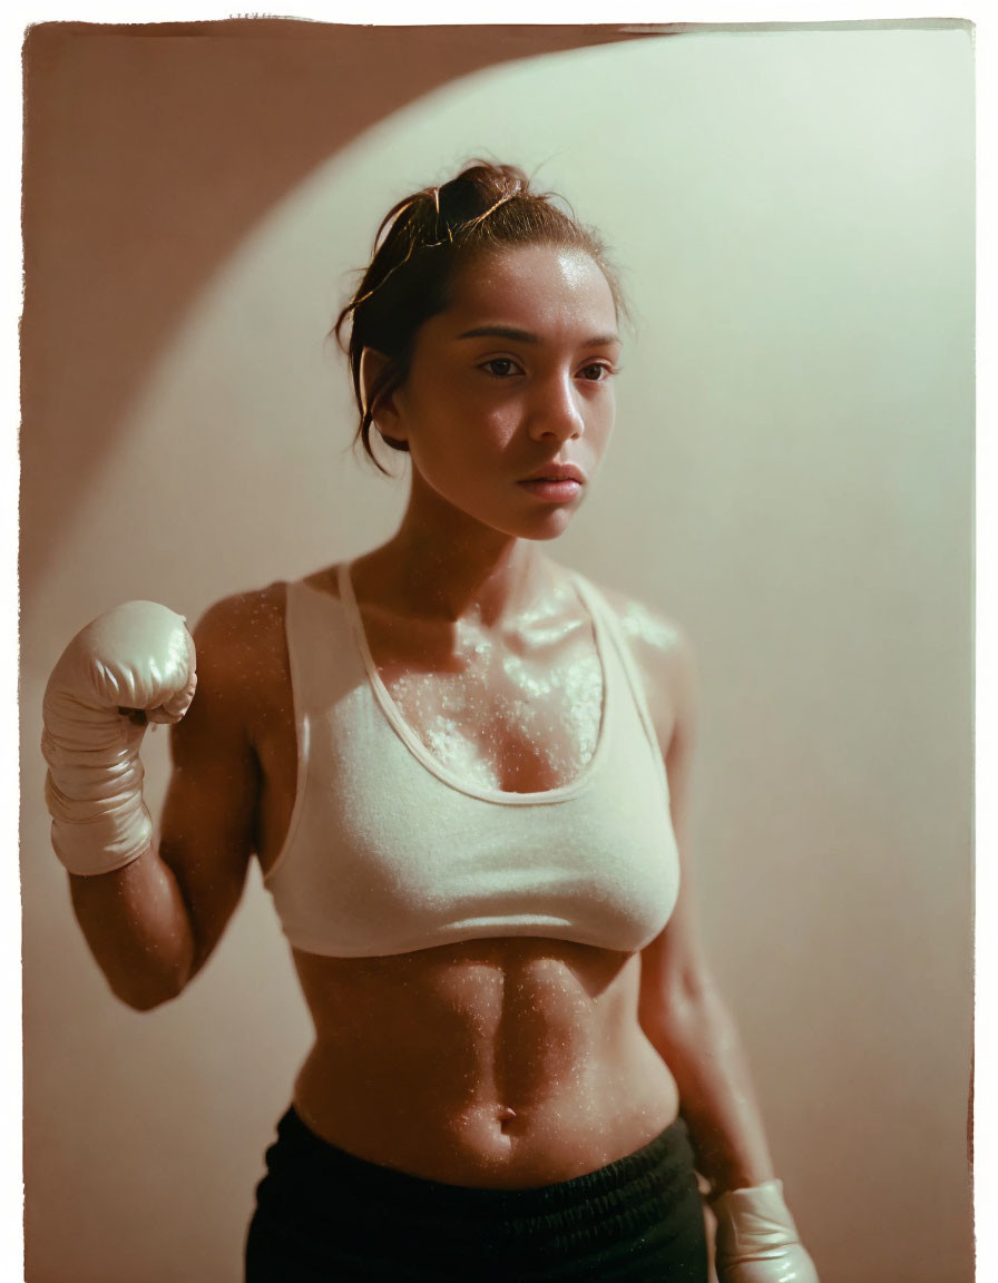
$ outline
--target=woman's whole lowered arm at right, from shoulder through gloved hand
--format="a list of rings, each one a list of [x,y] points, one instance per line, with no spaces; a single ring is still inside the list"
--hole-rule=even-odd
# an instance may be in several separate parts
[[[641,953],[638,1015],[680,1093],[697,1165],[717,1218],[721,1283],[817,1283],[813,1262],[774,1177],[745,1053],[707,964],[689,876],[689,780],[697,676],[675,630],[634,644],[670,784],[680,852],[680,894],[662,933]]]

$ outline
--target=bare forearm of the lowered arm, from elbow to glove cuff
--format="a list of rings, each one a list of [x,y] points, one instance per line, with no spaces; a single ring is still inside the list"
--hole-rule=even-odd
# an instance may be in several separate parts
[[[699,1171],[711,1193],[758,1185],[774,1175],[744,1049],[711,981],[641,1014],[648,1038],[680,1093]]]

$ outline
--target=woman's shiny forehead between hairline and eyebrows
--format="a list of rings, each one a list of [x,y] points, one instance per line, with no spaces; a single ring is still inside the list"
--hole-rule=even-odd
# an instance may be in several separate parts
[[[612,332],[617,309],[607,277],[585,250],[523,245],[476,255],[457,275],[446,325],[502,321],[525,330],[576,321]]]

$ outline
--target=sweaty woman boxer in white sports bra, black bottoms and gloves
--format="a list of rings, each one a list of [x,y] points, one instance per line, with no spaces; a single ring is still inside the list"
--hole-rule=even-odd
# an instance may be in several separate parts
[[[128,603],[46,692],[53,842],[114,992],[204,965],[255,853],[316,1025],[257,1280],[816,1278],[681,872],[689,648],[541,552],[613,427],[621,293],[512,167],[386,217],[336,326],[396,534],[213,607]],[[182,720],[180,720],[182,718]],[[158,848],[146,720],[176,722]],[[691,1142],[691,1146],[690,1146]],[[695,1155],[695,1157],[694,1157]]]

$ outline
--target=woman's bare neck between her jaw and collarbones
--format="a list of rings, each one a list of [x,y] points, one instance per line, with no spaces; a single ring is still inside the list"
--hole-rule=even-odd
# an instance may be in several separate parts
[[[526,611],[550,584],[531,540],[491,530],[443,502],[427,520],[410,499],[393,538],[358,558],[359,595],[403,615],[485,626]]]

